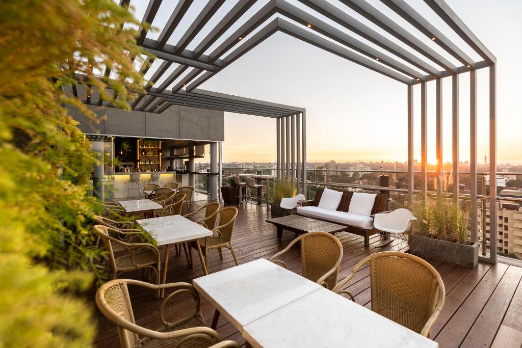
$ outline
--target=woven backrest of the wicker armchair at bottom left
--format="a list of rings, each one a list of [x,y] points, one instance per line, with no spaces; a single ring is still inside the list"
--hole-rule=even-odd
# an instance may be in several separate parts
[[[96,305],[105,318],[116,325],[122,319],[136,324],[129,296],[127,280],[115,279],[106,282],[96,292]],[[118,335],[122,347],[135,347],[139,343],[138,334],[118,325]]]

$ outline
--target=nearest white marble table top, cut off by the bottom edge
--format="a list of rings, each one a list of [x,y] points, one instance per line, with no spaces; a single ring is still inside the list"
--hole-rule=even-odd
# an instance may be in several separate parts
[[[243,329],[253,347],[436,348],[438,343],[350,299],[319,289]]]

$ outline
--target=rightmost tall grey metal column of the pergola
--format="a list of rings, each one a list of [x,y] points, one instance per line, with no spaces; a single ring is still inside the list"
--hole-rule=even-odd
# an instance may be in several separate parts
[[[490,258],[496,263],[496,65],[490,65]],[[484,218],[484,217],[482,217]]]

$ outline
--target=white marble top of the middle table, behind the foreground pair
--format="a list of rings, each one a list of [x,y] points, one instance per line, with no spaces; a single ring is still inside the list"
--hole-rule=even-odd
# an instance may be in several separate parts
[[[141,219],[136,222],[156,240],[158,246],[193,241],[212,235],[212,231],[181,215]]]

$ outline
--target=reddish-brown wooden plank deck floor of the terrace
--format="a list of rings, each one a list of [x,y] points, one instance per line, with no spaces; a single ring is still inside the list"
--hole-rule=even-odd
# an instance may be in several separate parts
[[[266,223],[265,209],[249,206],[240,208],[233,236],[233,247],[239,263],[258,258],[269,258],[283,249],[294,238],[294,234],[283,232],[281,240],[276,238],[276,229]],[[370,240],[370,247],[365,248],[363,238],[341,232],[336,234],[344,247],[339,279],[345,278],[353,266],[365,256],[384,251],[373,246],[378,244],[379,236]],[[388,249],[397,250],[393,244]],[[285,259],[292,271],[300,273],[300,250],[296,247]],[[196,254],[197,255],[197,254]],[[196,256],[195,255],[195,256]],[[199,261],[197,258],[194,260]],[[518,347],[522,346],[522,268],[503,263],[490,265],[480,262],[475,269],[469,270],[452,263],[428,259],[441,274],[446,287],[446,304],[438,322],[432,329],[432,339],[441,348],[449,347]],[[210,272],[232,267],[234,262],[230,252],[223,250],[223,260],[217,253],[210,254]],[[141,279],[141,273],[127,273],[126,277]],[[167,282],[191,282],[203,275],[201,265],[196,262],[194,269],[188,269],[185,256],[175,255],[171,248]],[[349,285],[357,303],[370,307],[369,269],[358,272]],[[157,329],[161,327],[159,307],[162,300],[155,298],[152,291],[131,287],[134,315],[138,325]],[[98,320],[96,345],[100,347],[119,346],[115,327],[108,322],[94,305],[94,291],[88,293],[89,301],[95,308]],[[201,297],[201,311],[210,326],[214,308]],[[171,301],[165,313],[166,317],[181,318],[193,313],[194,305],[188,297]],[[375,328],[378,333],[378,328]],[[220,317],[217,331],[223,339],[232,339],[244,344],[241,334],[226,320]]]

